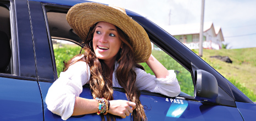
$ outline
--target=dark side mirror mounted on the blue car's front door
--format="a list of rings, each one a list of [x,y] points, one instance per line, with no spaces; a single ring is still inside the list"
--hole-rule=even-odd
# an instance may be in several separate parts
[[[194,72],[194,80],[194,98],[202,102],[216,103],[218,96],[216,78],[209,72],[198,69]]]

